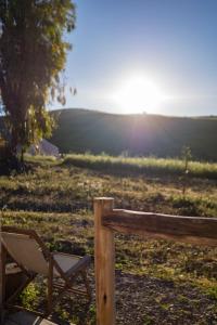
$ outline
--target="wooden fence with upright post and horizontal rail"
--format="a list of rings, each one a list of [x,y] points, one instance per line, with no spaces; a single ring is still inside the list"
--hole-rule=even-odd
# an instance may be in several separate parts
[[[114,199],[107,197],[94,199],[94,231],[98,325],[115,324],[115,231],[149,238],[217,245],[217,218],[114,209]]]

